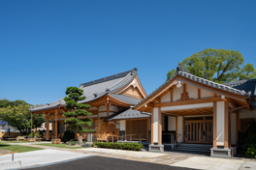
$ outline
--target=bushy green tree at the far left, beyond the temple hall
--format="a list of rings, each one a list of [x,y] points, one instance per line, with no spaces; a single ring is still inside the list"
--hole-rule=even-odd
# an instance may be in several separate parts
[[[8,99],[1,99],[0,103],[6,100]],[[24,100],[10,101],[7,105],[0,105],[0,120],[8,122],[10,126],[16,127],[23,135],[26,135],[31,128],[30,106]],[[44,122],[46,122],[44,115],[33,115],[33,128],[41,127]]]

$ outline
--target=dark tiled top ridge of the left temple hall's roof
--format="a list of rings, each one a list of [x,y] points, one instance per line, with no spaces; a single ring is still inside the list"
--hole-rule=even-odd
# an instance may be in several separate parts
[[[99,79],[96,79],[96,80],[93,80],[93,81],[88,81],[88,82],[86,82],[86,83],[81,83],[81,84],[80,84],[80,87],[91,86],[91,85],[103,83],[103,82],[106,82],[106,81],[110,81],[110,80],[112,80],[112,79],[124,77],[124,76],[126,76],[129,72],[133,72],[133,71],[136,71],[136,72],[137,72],[137,68],[135,68],[135,69],[133,69],[133,70],[130,70],[130,71],[123,71],[123,72],[120,72],[120,73],[115,73],[115,74],[112,74],[112,75],[110,75],[110,76],[106,76],[106,77],[103,77],[103,78],[99,78]]]

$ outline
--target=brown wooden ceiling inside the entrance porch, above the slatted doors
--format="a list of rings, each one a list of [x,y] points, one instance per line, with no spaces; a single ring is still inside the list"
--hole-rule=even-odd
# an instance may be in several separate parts
[[[196,109],[169,110],[169,111],[163,111],[162,113],[176,115],[176,116],[208,115],[208,114],[213,114],[213,108],[204,107],[204,108],[196,108]]]

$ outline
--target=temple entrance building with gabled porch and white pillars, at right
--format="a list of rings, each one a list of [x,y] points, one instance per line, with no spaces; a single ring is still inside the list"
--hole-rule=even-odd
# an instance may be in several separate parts
[[[256,120],[256,79],[219,84],[176,68],[176,75],[134,109],[151,113],[149,151],[231,157]]]

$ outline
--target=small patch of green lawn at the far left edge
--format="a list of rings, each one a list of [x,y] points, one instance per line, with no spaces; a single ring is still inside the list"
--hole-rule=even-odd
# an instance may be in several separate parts
[[[0,149],[9,150],[11,152],[19,151],[18,153],[44,150],[43,148],[28,147],[28,146],[22,146],[22,145],[8,145],[3,142],[0,142]]]

